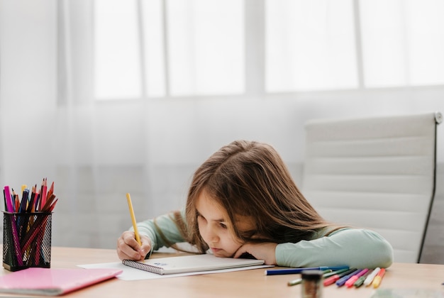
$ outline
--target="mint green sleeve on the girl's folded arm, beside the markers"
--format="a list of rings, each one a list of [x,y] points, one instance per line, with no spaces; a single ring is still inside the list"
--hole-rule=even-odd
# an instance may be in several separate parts
[[[278,244],[276,261],[285,267],[387,268],[393,262],[393,248],[374,231],[342,228],[311,241]]]

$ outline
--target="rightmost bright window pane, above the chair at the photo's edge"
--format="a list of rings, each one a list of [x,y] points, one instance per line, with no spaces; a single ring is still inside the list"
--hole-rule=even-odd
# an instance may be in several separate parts
[[[365,86],[443,84],[441,11],[440,0],[360,1]]]

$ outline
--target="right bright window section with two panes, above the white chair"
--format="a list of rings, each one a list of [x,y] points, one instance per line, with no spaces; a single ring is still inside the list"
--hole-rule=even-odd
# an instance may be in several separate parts
[[[444,83],[443,1],[266,4],[268,92]]]

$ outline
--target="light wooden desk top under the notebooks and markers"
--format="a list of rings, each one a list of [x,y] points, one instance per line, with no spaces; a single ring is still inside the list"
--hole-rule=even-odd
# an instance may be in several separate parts
[[[153,257],[165,257],[155,253]],[[118,262],[115,250],[53,247],[51,267]],[[77,267],[78,268],[78,267]],[[9,271],[0,270],[0,275]],[[300,275],[265,276],[264,269],[156,280],[123,281],[114,278],[63,297],[301,297],[301,286],[287,286]],[[379,288],[429,289],[443,292],[444,265],[396,263],[387,269]],[[372,287],[324,288],[325,298],[371,297]],[[6,295],[4,295],[6,296]],[[1,295],[0,295],[1,297]],[[11,295],[9,295],[11,297]]]

